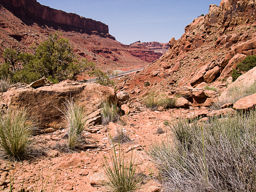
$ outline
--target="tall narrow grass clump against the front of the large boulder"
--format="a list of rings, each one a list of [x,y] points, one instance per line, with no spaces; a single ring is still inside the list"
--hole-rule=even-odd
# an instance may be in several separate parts
[[[76,148],[82,139],[82,133],[86,128],[86,113],[84,108],[77,105],[72,99],[64,102],[64,119],[68,125],[68,147]]]

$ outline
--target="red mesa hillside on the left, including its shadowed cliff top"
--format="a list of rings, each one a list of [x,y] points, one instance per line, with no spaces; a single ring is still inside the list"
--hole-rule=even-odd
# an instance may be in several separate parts
[[[108,25],[100,21],[55,10],[36,0],[0,0],[0,12],[2,51],[19,46],[24,52],[31,52],[31,45],[44,41],[49,33],[60,31],[77,54],[94,60],[102,68],[110,67],[109,64],[112,69],[146,66],[162,55],[146,46],[119,43],[108,33]]]

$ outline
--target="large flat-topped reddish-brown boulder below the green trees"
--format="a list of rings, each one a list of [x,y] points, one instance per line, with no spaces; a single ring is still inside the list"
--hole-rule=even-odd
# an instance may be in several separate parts
[[[0,93],[0,105],[25,107],[29,110],[29,116],[36,117],[38,127],[59,129],[63,127],[63,114],[60,110],[64,110],[63,103],[66,99],[70,100],[70,97],[83,105],[88,114],[98,110],[104,100],[118,102],[112,87],[67,80],[37,89],[13,87]]]

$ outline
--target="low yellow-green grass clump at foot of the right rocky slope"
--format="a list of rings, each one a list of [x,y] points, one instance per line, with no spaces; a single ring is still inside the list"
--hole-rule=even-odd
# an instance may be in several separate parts
[[[150,108],[151,110],[157,110],[157,108],[160,106],[164,108],[173,108],[179,97],[180,96],[177,95],[174,98],[165,98],[163,95],[152,91],[148,93],[146,98],[143,98],[143,101],[147,108]]]

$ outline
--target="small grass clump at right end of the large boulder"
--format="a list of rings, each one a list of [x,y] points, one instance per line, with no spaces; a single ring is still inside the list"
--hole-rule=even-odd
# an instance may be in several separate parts
[[[116,122],[119,120],[118,111],[116,103],[109,103],[108,101],[104,101],[101,104],[101,123],[102,125],[108,125],[109,122]]]

